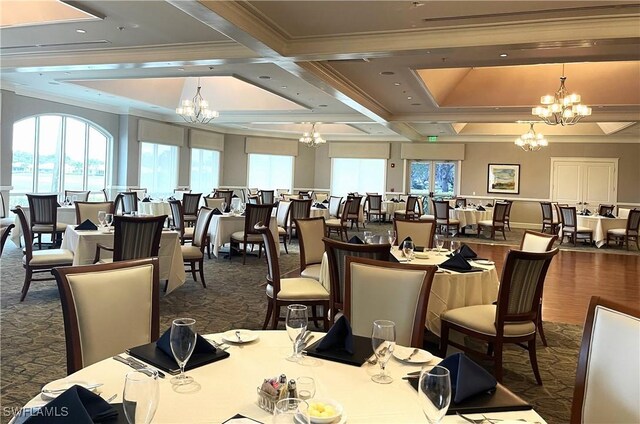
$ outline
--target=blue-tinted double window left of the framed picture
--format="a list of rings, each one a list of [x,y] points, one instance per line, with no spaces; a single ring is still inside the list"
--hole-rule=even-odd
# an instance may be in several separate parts
[[[453,197],[457,192],[457,162],[411,161],[409,192]]]

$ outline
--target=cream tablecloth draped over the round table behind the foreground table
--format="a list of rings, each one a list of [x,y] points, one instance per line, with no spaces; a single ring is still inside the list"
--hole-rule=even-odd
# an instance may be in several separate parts
[[[399,260],[403,260],[397,248],[394,247],[391,253]],[[449,252],[443,251],[442,255],[431,252],[429,259],[414,259],[411,263],[414,265],[438,265],[447,259],[445,253]],[[435,335],[440,336],[440,316],[449,309],[489,305],[498,298],[500,280],[496,267],[475,263],[473,266],[484,268],[485,271],[467,273],[449,271],[450,273],[438,273],[434,276],[427,305],[425,327]],[[331,291],[329,260],[326,253],[320,264],[320,283],[327,291]]]

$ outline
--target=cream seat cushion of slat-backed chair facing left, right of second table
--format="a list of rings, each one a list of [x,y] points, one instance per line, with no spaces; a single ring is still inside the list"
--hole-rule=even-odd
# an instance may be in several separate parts
[[[496,305],[475,305],[450,309],[440,318],[478,333],[489,336],[496,335]],[[505,323],[504,326],[505,337],[527,336],[535,331],[536,326],[531,321]]]

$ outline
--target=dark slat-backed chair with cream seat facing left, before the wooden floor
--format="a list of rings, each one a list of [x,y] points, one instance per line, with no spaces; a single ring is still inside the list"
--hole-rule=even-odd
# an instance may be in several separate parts
[[[531,368],[536,382],[541,385],[536,357],[536,324],[544,280],[549,264],[557,253],[557,248],[544,253],[509,250],[502,269],[496,304],[450,309],[440,316],[440,356],[446,357],[447,348],[452,345],[491,360],[495,364],[494,375],[502,382],[503,345],[527,342]],[[451,330],[486,342],[489,345],[487,353],[449,340]]]

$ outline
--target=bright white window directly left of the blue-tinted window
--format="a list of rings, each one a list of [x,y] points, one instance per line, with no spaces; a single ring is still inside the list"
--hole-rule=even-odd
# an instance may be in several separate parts
[[[385,159],[331,160],[331,195],[346,196],[348,193],[384,193]]]

